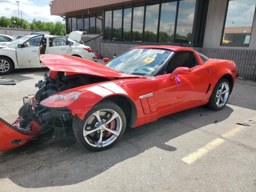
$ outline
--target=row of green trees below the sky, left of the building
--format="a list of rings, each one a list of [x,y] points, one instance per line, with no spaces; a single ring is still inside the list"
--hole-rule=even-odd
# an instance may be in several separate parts
[[[51,35],[65,35],[65,24],[62,24],[61,22],[42,22],[40,20],[37,21],[36,19],[33,19],[33,21],[29,23],[27,20],[19,20],[18,17],[14,16],[12,16],[11,18],[6,18],[4,16],[0,17],[0,27],[50,31]]]

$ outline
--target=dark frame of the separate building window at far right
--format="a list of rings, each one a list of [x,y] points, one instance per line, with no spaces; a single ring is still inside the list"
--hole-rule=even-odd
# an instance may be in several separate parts
[[[250,40],[248,44],[224,44],[222,43],[223,40],[223,35],[224,35],[224,30],[225,30],[225,24],[226,24],[226,20],[227,20],[227,14],[228,14],[228,5],[229,5],[230,0],[227,0],[227,5],[226,5],[226,12],[225,12],[225,17],[224,17],[224,22],[223,22],[223,26],[222,26],[222,33],[221,33],[221,38],[220,38],[220,46],[228,46],[228,47],[249,47],[250,46],[250,42],[251,42],[251,38],[252,38],[252,31],[250,34]],[[254,26],[254,19],[255,19],[255,14],[256,14],[256,6],[255,6],[255,10],[254,10],[254,15],[253,15],[253,20],[252,20],[252,28]]]

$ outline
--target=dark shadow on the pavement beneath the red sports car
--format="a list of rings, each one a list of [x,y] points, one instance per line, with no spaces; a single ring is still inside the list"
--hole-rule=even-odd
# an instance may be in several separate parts
[[[221,111],[205,107],[193,108],[160,118],[138,128],[127,129],[114,147],[91,152],[80,146],[72,132],[68,142],[60,134],[56,138],[31,148],[37,141],[21,148],[0,153],[0,178],[9,178],[24,188],[66,186],[88,180],[147,149],[158,147],[168,152],[177,150],[165,144],[198,128],[221,122],[232,114],[226,106]],[[184,123],[193,120],[193,125]],[[29,150],[28,150],[29,149]]]

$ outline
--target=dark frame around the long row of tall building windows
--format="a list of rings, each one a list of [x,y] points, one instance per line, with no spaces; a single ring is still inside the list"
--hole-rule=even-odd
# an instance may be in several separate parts
[[[147,44],[147,45],[176,45],[176,46],[190,46],[190,47],[202,47],[203,41],[204,41],[204,30],[206,27],[206,17],[208,12],[208,4],[209,0],[196,0],[195,2],[195,12],[194,12],[194,19],[193,19],[193,25],[192,25],[192,41],[191,43],[182,43],[182,42],[175,42],[176,39],[176,28],[177,28],[177,22],[178,22],[178,10],[179,10],[179,2],[183,0],[149,0],[144,3],[135,3],[130,6],[123,6],[122,7],[122,39],[120,41],[112,41],[111,40],[105,40],[104,38],[104,31],[105,31],[105,13],[106,11],[112,11],[112,20],[113,20],[113,10],[116,8],[106,8],[104,9],[104,18],[102,20],[103,25],[103,42],[110,42],[110,43],[120,43],[123,44],[124,42],[128,44]],[[162,3],[166,2],[177,2],[176,6],[176,13],[175,13],[175,26],[174,26],[174,38],[172,42],[159,42],[159,28],[160,28],[160,19],[161,19],[161,9],[162,9]],[[201,5],[200,2],[203,2]],[[144,33],[145,33],[145,20],[146,20],[146,6],[152,5],[152,4],[159,4],[159,12],[158,12],[158,25],[157,25],[157,39],[156,42],[146,42],[144,41]],[[133,30],[133,20],[134,20],[134,7],[138,6],[144,6],[144,14],[143,14],[143,29],[142,29],[142,41],[141,42],[133,42],[132,41],[132,30]],[[131,30],[130,30],[130,41],[124,41],[123,38],[123,24],[124,24],[124,9],[126,8],[132,8],[132,14],[131,14]],[[197,22],[199,21],[199,22]],[[112,23],[113,24],[113,23]],[[111,36],[112,36],[112,28],[111,28]]]

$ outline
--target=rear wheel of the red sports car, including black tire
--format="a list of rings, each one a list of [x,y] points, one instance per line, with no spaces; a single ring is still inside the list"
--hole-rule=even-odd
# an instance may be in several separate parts
[[[230,84],[226,78],[221,78],[216,84],[209,102],[206,105],[212,110],[221,110],[228,102],[230,93]]]

